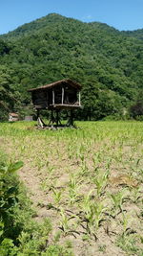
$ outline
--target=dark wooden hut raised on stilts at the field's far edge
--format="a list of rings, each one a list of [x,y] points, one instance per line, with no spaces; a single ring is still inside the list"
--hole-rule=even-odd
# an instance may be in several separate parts
[[[51,110],[50,125],[60,124],[59,112],[61,109],[71,111],[69,125],[73,125],[72,110],[81,107],[80,103],[81,85],[72,80],[55,81],[50,84],[32,88],[31,92],[32,103],[37,110],[37,118],[41,126],[44,123],[39,119],[40,109]]]

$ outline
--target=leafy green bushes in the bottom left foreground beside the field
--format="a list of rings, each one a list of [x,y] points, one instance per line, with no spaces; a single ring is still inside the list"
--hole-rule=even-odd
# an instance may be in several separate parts
[[[15,172],[23,162],[8,163],[7,156],[0,151],[0,255],[67,255],[71,248],[48,243],[51,221],[32,221],[34,215],[31,201]]]

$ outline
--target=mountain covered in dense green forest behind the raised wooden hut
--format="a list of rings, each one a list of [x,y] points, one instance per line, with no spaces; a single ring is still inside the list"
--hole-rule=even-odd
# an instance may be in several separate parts
[[[30,104],[29,88],[67,78],[83,84],[78,117],[122,115],[143,89],[142,35],[55,13],[0,35],[1,119]]]

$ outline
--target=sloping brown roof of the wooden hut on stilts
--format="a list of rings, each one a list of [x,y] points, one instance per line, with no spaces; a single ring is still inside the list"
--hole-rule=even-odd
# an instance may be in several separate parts
[[[37,91],[37,90],[41,90],[41,89],[47,89],[47,88],[51,88],[54,87],[56,85],[61,85],[61,84],[67,84],[67,85],[71,85],[72,87],[76,88],[76,89],[81,89],[81,84],[77,83],[76,81],[72,81],[70,79],[68,80],[60,80],[60,81],[54,81],[51,82],[49,84],[37,87],[37,88],[31,88],[30,90],[28,90],[29,92],[31,91]]]

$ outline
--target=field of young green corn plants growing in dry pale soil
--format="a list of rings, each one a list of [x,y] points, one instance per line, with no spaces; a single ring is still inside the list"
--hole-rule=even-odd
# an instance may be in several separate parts
[[[76,126],[0,124],[0,149],[24,162],[34,221],[51,221],[49,244],[65,255],[143,255],[143,123]]]

